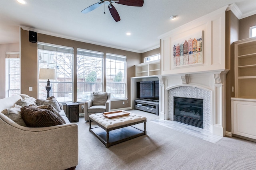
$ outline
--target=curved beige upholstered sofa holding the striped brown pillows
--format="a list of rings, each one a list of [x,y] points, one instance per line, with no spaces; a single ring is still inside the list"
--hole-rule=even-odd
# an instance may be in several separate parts
[[[0,99],[0,112],[27,95]],[[24,127],[0,113],[0,169],[65,170],[78,164],[78,125],[70,123],[63,109],[64,125]]]

